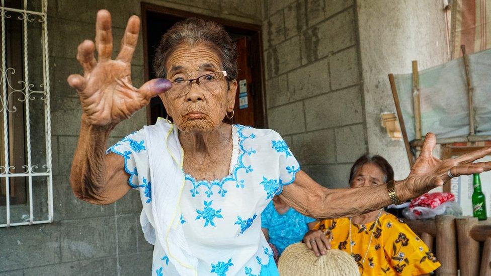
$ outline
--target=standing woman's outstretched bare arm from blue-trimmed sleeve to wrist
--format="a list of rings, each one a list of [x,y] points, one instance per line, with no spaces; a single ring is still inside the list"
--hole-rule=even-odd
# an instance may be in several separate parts
[[[401,201],[412,194],[402,181],[395,182],[395,192]],[[305,172],[297,173],[295,182],[285,186],[281,197],[298,212],[317,219],[356,216],[390,205],[387,185],[353,189],[327,189]]]

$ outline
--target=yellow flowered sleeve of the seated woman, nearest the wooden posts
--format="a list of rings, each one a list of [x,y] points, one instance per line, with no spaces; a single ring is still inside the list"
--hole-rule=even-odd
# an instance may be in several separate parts
[[[396,219],[384,223],[384,251],[397,273],[420,275],[440,266],[428,246],[406,224]]]

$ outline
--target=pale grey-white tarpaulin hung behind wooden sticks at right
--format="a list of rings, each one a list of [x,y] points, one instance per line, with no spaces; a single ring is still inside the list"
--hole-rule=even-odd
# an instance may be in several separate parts
[[[475,135],[491,135],[491,49],[469,55],[474,87]],[[407,137],[416,139],[413,74],[394,75]],[[467,83],[463,58],[419,72],[421,132],[438,138],[469,135]]]

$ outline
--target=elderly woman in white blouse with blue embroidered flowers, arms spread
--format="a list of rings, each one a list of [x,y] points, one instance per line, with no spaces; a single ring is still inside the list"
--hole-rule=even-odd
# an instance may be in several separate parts
[[[177,23],[156,51],[159,78],[136,88],[130,63],[139,28],[138,17],[131,17],[113,60],[111,16],[102,10],[95,43],[78,47],[84,75],[70,75],[68,82],[83,115],[70,185],[77,198],[93,204],[111,204],[130,189],[140,192],[141,226],[155,245],[152,274],[278,274],[260,218],[274,196],[310,217],[349,217],[419,196],[453,176],[491,169],[491,163],[471,164],[490,149],[451,160],[433,157],[435,137],[429,134],[406,179],[321,187],[300,170],[275,131],[222,122],[233,116],[237,54],[220,25]],[[155,96],[169,117],[106,152],[111,130]]]

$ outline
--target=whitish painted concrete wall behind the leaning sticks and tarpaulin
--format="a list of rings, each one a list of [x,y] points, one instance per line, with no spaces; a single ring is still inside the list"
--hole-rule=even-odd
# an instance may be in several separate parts
[[[410,73],[412,60],[420,70],[449,60],[443,0],[358,0],[357,14],[368,149],[405,178],[404,143],[381,126],[381,114],[395,112],[387,75]]]

